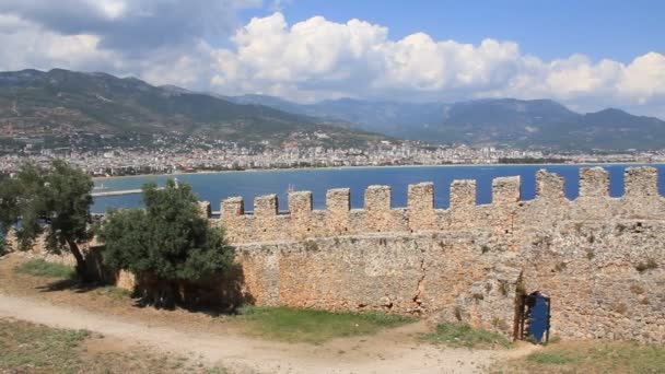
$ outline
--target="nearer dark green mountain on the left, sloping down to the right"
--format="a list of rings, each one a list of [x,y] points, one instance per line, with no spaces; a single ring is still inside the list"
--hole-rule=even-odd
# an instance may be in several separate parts
[[[0,129],[26,135],[170,132],[242,143],[299,139],[312,145],[385,139],[264,105],[61,69],[0,72]]]

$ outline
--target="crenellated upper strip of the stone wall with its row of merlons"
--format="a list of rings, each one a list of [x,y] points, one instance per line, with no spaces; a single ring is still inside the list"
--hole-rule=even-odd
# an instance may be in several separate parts
[[[580,170],[580,192],[574,200],[564,195],[561,176],[539,171],[536,197],[522,201],[518,176],[498,177],[492,183],[492,202],[477,204],[476,180],[454,180],[450,186],[450,208],[434,206],[434,184],[409,185],[405,208],[392,208],[389,186],[369,186],[364,207],[351,209],[348,188],[330,189],[326,209],[313,209],[311,191],[289,194],[289,211],[279,212],[277,195],[255,198],[252,213],[245,201],[233,197],[222,201],[221,224],[232,243],[301,241],[308,237],[371,234],[385,232],[446,231],[459,227],[515,230],[515,224],[529,225],[529,220],[602,219],[639,215],[663,219],[663,198],[657,191],[657,173],[653,167],[630,167],[625,174],[626,192],[609,196],[609,174],[602,167]],[[209,211],[209,210],[208,210]],[[508,232],[508,231],[506,231]]]

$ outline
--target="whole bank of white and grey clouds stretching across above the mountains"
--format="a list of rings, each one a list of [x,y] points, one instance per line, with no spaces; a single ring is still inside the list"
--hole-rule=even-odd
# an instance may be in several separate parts
[[[665,56],[654,51],[629,63],[582,54],[547,61],[510,40],[474,45],[424,33],[392,39],[387,27],[361,20],[315,16],[289,24],[276,12],[234,26],[230,9],[258,0],[62,1],[78,8],[0,3],[1,70],[106,71],[155,84],[295,101],[547,97],[582,110],[618,106],[665,117]],[[228,47],[215,47],[212,40],[219,44],[231,28]]]

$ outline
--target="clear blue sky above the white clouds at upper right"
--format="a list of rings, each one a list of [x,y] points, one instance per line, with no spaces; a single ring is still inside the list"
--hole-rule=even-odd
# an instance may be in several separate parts
[[[272,9],[267,4],[243,17]],[[472,44],[487,37],[514,40],[545,59],[582,52],[629,62],[646,51],[665,52],[663,0],[292,0],[280,9],[289,22],[323,15],[386,25],[390,38],[424,32]]]

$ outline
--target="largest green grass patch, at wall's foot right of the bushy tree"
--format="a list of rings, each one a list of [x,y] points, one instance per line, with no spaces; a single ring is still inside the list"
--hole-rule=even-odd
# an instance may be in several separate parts
[[[383,328],[413,322],[411,317],[384,313],[331,313],[290,307],[245,306],[241,317],[252,332],[283,341],[323,341],[374,334]]]

